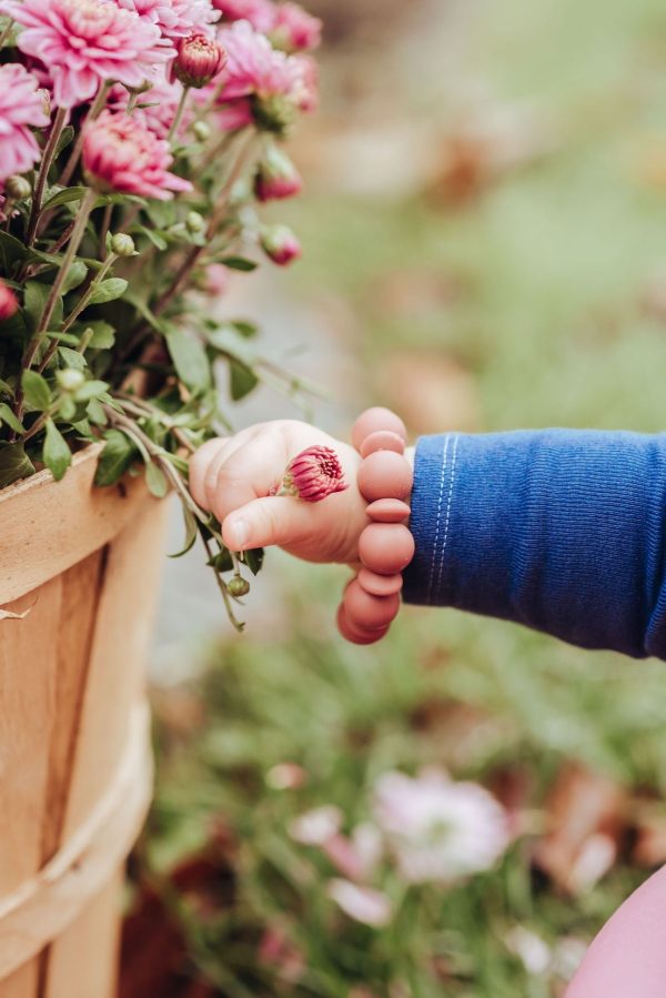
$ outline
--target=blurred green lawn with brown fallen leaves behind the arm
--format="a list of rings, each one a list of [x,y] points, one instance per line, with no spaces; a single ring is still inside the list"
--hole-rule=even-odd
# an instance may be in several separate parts
[[[385,403],[415,435],[662,430],[664,6],[310,6],[329,37],[294,150],[310,187],[273,209],[305,259],[284,308],[270,275],[264,305],[242,289],[233,304],[284,353],[306,345],[335,400],[315,419],[346,435]],[[282,413],[262,400],[248,420]],[[155,685],[123,998],[561,996],[666,859],[664,666],[418,608],[352,648],[333,626],[345,573],[269,561],[246,635]],[[393,917],[373,928],[335,905],[340,861],[293,823],[334,805],[350,834],[381,774],[424,766],[487,787],[514,838],[447,887],[377,867]]]

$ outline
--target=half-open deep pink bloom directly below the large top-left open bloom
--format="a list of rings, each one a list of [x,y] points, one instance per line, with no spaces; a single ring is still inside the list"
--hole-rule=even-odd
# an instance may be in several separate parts
[[[167,201],[174,191],[191,191],[182,177],[169,172],[169,142],[158,139],[143,122],[102,111],[84,125],[83,169],[93,187]]]

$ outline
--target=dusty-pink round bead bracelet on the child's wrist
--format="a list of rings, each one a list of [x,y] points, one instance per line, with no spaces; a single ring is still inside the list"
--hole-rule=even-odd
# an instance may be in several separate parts
[[[359,491],[369,503],[369,525],[359,538],[362,568],[337,611],[343,637],[357,645],[380,641],[397,616],[402,572],[414,556],[405,525],[413,473],[404,456],[407,431],[389,409],[369,409],[354,423],[352,443],[363,457]]]

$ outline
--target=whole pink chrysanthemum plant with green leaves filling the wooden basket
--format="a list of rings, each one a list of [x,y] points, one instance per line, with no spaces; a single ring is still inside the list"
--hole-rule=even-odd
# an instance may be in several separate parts
[[[98,484],[141,462],[175,490],[229,607],[248,584],[186,456],[224,422],[219,365],[232,400],[294,380],[211,299],[300,255],[258,206],[301,189],[278,143],[316,104],[320,28],[272,0],[0,0],[0,487],[103,442]]]

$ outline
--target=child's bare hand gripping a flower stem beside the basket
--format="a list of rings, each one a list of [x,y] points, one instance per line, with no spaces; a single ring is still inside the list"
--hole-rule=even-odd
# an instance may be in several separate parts
[[[349,488],[319,503],[270,495],[290,461],[314,444],[335,451]],[[369,522],[356,487],[360,464],[349,444],[307,423],[280,420],[205,443],[190,462],[190,486],[222,524],[231,551],[278,544],[309,562],[352,564]]]

